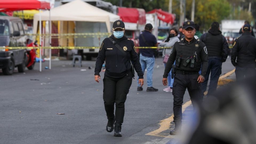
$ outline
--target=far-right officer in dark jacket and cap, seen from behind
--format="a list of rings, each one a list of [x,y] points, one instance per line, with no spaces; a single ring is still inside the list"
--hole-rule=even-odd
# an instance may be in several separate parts
[[[251,35],[249,24],[245,24],[242,31],[242,36],[235,39],[231,54],[237,81],[256,73],[256,38]]]

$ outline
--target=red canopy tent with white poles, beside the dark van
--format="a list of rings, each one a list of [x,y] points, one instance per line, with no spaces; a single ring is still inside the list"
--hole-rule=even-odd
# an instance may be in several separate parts
[[[43,10],[50,10],[49,2],[41,2],[37,0],[1,0],[0,1],[0,11],[16,11],[16,10],[39,10],[39,13]],[[50,13],[49,13],[50,14]],[[49,16],[50,17],[50,16]],[[51,21],[49,21],[50,34],[51,34]],[[42,36],[41,36],[41,16],[39,21],[39,44],[41,45]],[[51,39],[51,37],[50,37]],[[51,40],[50,40],[51,41]],[[41,48],[40,48],[40,59],[42,58]],[[51,50],[50,50],[51,58]],[[51,69],[51,59],[49,63],[49,68]],[[42,71],[42,61],[40,60],[40,70]]]

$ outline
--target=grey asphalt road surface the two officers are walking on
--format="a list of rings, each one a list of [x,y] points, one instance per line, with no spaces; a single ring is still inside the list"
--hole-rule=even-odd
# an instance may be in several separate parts
[[[94,81],[94,61],[73,67],[71,61],[52,61],[52,69],[35,70],[11,76],[0,70],[0,143],[146,143],[163,137],[145,135],[159,128],[159,121],[173,114],[173,96],[162,89],[164,65],[157,58],[153,86],[158,92],[137,91],[133,80],[125,103],[123,137],[113,137],[106,129],[103,105],[103,73]],[[89,66],[93,67],[89,69]],[[86,69],[86,70],[85,70]],[[234,69],[230,58],[222,74]],[[186,92],[184,103],[189,101]],[[59,115],[57,113],[65,113]]]

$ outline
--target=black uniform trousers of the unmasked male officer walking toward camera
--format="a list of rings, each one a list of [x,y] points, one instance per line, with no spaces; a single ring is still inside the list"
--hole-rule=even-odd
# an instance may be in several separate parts
[[[202,86],[198,83],[199,74],[178,74],[176,73],[173,82],[173,113],[174,122],[181,123],[182,120],[182,103],[186,88],[193,106],[202,102]]]

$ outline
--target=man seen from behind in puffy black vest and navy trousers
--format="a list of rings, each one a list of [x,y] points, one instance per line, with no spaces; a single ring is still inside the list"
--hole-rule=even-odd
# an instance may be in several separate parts
[[[202,83],[202,93],[206,91],[209,75],[211,74],[208,95],[217,89],[219,76],[221,75],[222,62],[225,62],[229,53],[229,45],[226,38],[219,30],[219,23],[213,22],[208,33],[201,36],[208,50],[208,69],[205,81]]]

